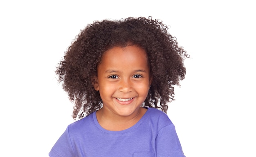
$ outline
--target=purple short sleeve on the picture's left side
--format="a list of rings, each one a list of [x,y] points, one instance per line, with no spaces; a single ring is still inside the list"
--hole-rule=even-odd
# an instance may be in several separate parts
[[[72,143],[70,141],[68,128],[61,135],[58,141],[49,152],[49,157],[74,157]]]

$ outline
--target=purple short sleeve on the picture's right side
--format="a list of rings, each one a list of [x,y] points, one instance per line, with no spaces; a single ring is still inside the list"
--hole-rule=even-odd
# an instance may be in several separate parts
[[[157,157],[185,157],[173,124],[161,128],[155,142]]]

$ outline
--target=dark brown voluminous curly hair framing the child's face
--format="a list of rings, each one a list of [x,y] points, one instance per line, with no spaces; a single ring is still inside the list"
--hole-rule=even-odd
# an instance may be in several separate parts
[[[56,70],[63,90],[74,102],[73,119],[102,107],[93,86],[101,56],[112,47],[128,45],[138,45],[148,56],[153,81],[142,106],[167,112],[167,103],[174,100],[174,85],[180,85],[186,74],[184,58],[189,57],[167,30],[168,26],[151,16],[94,21],[81,30]]]

